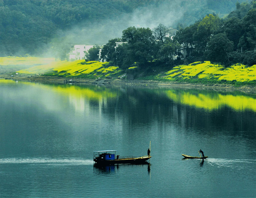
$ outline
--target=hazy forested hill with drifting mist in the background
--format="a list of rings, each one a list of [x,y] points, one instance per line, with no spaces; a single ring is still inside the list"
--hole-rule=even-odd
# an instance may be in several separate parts
[[[105,44],[129,26],[187,26],[244,1],[0,0],[0,56],[60,57],[70,44]]]

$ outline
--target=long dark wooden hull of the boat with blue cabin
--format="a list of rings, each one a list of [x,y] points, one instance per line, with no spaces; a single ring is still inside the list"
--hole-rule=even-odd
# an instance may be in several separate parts
[[[150,159],[152,156],[143,156],[140,158],[121,158],[121,159],[113,159],[113,160],[100,160],[93,159],[96,164],[105,164],[105,165],[113,165],[113,164],[141,164]]]

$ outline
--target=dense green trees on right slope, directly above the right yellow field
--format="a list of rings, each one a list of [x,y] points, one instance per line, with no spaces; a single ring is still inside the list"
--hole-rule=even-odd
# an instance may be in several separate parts
[[[188,61],[208,59],[229,65],[249,60],[248,64],[252,65],[250,57],[254,57],[256,48],[255,21],[256,0],[237,3],[236,11],[231,12],[227,18],[206,15],[201,21],[181,28],[174,39],[187,49]],[[250,50],[252,53],[243,54]],[[234,54],[232,51],[240,54]]]

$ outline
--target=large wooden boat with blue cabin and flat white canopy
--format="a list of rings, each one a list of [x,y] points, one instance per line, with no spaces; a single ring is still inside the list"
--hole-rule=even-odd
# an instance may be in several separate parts
[[[97,164],[140,164],[148,159],[150,159],[152,156],[140,156],[140,157],[134,157],[134,156],[123,156],[119,157],[119,155],[116,156],[117,150],[100,150],[100,151],[93,151],[93,161]]]

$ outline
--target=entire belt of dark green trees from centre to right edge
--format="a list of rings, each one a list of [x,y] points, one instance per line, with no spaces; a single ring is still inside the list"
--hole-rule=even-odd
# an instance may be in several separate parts
[[[236,10],[226,18],[206,15],[194,24],[180,28],[173,38],[168,36],[169,29],[163,24],[152,30],[129,27],[123,31],[122,38],[109,40],[101,55],[103,60],[122,69],[174,66],[206,60],[226,67],[236,63],[252,66],[256,64],[255,21],[256,0],[237,2]],[[120,40],[127,43],[115,49],[115,42]],[[181,49],[186,50],[186,57]]]

